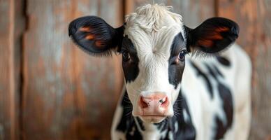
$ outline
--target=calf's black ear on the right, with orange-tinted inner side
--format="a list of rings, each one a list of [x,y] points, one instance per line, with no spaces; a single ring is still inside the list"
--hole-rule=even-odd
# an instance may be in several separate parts
[[[237,23],[226,18],[210,18],[196,29],[186,27],[187,50],[216,53],[233,43],[239,34]]]

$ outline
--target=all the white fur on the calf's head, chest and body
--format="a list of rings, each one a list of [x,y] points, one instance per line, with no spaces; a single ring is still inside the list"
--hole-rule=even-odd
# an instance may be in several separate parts
[[[177,87],[177,90],[174,90],[173,85],[168,82],[168,57],[170,56],[171,43],[178,33],[182,32],[184,36],[182,16],[171,13],[168,8],[147,5],[138,8],[136,13],[126,16],[124,35],[129,36],[140,59],[138,77],[133,82],[126,83],[126,90],[133,104],[133,112],[137,110],[140,92],[166,92],[170,97],[170,104],[173,104],[180,87],[182,87],[191,113],[191,120],[196,127],[196,139],[212,139],[215,132],[213,130],[214,116],[219,116],[223,123],[226,123],[218,91],[214,90],[214,98],[211,99],[203,79],[196,76],[195,69],[189,63],[186,63],[182,84]],[[230,87],[234,105],[233,125],[226,132],[224,139],[247,139],[251,119],[251,63],[249,57],[236,44],[222,55],[230,60],[231,66],[229,68],[219,64],[214,58],[193,59],[186,57],[186,60],[191,59],[203,71],[205,70],[203,63],[212,63],[218,66],[226,77],[219,80]],[[215,84],[212,78],[211,83]],[[186,113],[184,114],[187,118]],[[119,103],[112,124],[112,139],[124,139],[124,134],[116,130],[117,123],[121,121],[121,115],[122,107]],[[142,132],[145,139],[156,139],[164,135],[163,132],[157,132],[153,125],[145,125],[145,127],[145,132]]]

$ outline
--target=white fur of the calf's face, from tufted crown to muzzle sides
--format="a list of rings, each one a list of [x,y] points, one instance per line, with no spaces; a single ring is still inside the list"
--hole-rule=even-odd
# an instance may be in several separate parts
[[[184,33],[182,16],[168,9],[157,4],[146,5],[126,16],[125,35],[136,48],[140,71],[136,80],[126,83],[133,115],[138,111],[140,92],[165,92],[172,105],[180,90],[175,90],[168,81],[168,58],[174,37]],[[173,107],[168,113],[173,116]]]

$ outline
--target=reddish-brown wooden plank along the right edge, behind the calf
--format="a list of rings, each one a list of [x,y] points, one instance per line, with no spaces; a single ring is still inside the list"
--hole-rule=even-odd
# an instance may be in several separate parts
[[[270,4],[268,0],[219,1],[218,15],[240,25],[237,43],[249,53],[253,63],[250,139],[271,139]]]

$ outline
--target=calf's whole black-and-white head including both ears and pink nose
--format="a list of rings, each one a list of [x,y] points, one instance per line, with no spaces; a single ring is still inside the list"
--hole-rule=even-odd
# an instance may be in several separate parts
[[[174,114],[185,55],[224,50],[235,41],[238,30],[235,22],[225,18],[210,18],[189,29],[182,16],[168,7],[146,5],[127,15],[122,27],[115,29],[101,18],[88,16],[73,20],[68,34],[91,55],[122,53],[133,116],[159,123]]]

